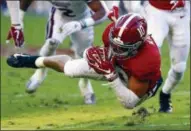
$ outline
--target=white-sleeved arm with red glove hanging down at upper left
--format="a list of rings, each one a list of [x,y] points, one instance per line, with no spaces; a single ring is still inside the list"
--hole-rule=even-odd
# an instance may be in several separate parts
[[[8,35],[8,41],[13,38],[16,47],[22,47],[24,45],[24,35],[19,18],[19,0],[9,1],[7,0],[7,7],[9,9],[11,17],[11,28]]]

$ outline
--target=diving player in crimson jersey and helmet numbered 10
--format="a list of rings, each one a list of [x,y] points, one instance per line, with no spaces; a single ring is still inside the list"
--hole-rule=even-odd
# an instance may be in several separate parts
[[[160,53],[147,34],[145,19],[138,14],[121,16],[107,26],[103,42],[103,47],[86,49],[81,59],[14,54],[7,63],[15,68],[48,67],[70,77],[107,80],[128,109],[154,96],[162,83]]]

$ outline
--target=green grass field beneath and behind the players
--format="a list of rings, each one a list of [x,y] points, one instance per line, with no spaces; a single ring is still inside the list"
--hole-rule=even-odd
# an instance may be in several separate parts
[[[40,47],[45,37],[45,17],[25,17],[26,46]],[[108,22],[95,28],[95,43],[101,44],[101,33]],[[1,44],[5,43],[9,18],[1,15]],[[68,47],[67,39],[59,48]],[[166,78],[170,62],[168,45],[162,48],[162,72]],[[190,57],[189,57],[190,60]],[[114,92],[92,81],[96,105],[84,105],[77,87],[78,79],[65,77],[52,70],[38,91],[25,93],[32,69],[14,69],[1,57],[1,129],[110,129],[110,130],[189,130],[190,129],[190,61],[183,81],[174,90],[172,114],[158,113],[158,93],[134,110],[124,109]],[[148,115],[136,114],[140,107]],[[133,113],[134,112],[134,113]],[[133,115],[135,114],[135,115]]]

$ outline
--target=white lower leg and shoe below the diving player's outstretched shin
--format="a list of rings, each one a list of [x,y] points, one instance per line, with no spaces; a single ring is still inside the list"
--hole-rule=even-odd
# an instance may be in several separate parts
[[[26,84],[26,92],[27,93],[34,93],[37,88],[41,85],[47,75],[46,68],[37,69],[35,73],[31,76],[29,81]]]

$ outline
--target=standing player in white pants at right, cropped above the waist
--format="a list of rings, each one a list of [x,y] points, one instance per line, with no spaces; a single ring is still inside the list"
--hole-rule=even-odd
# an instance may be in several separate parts
[[[160,92],[160,112],[172,112],[171,92],[182,80],[190,49],[190,1],[149,0],[145,7],[148,33],[161,48],[167,37],[171,67]]]

